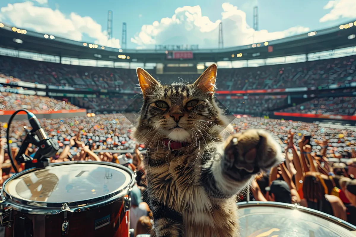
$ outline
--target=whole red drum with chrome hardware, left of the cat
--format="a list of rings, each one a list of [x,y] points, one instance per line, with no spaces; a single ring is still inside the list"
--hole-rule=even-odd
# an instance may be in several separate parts
[[[129,236],[130,169],[109,162],[70,161],[20,172],[4,183],[5,236]]]

